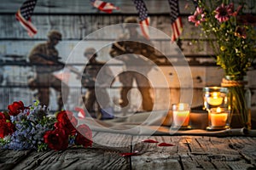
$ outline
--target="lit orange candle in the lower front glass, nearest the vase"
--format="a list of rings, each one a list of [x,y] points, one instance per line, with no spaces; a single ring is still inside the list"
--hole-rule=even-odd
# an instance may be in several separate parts
[[[220,107],[212,109],[209,112],[210,126],[212,127],[224,127],[228,119],[228,113],[222,110]]]

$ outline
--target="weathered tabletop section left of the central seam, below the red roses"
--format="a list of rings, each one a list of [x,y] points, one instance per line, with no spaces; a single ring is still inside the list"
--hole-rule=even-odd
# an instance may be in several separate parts
[[[120,156],[131,151],[131,136],[94,133],[90,148],[44,152],[1,150],[0,169],[129,169],[130,159]]]

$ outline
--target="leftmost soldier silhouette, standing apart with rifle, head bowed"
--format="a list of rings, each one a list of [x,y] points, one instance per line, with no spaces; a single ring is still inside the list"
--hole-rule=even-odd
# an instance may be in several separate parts
[[[54,71],[59,71],[64,67],[64,64],[59,61],[59,53],[55,48],[59,41],[61,41],[61,33],[55,30],[49,31],[48,41],[32,48],[29,60],[36,69],[37,75],[34,84],[38,88],[40,104],[49,105],[49,88],[54,88],[59,93],[57,104],[58,111],[61,111],[63,104],[67,102],[69,88],[66,83],[61,82],[60,79],[52,74]]]

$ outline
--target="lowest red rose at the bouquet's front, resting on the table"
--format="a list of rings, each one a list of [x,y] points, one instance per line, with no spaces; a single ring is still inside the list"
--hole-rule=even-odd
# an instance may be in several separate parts
[[[68,146],[68,135],[64,129],[56,128],[44,133],[44,143],[52,150],[66,150]]]

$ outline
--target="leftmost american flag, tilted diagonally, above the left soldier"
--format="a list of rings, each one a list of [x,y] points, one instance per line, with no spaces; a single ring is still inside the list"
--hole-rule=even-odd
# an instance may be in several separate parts
[[[37,0],[26,0],[15,14],[16,20],[20,21],[20,25],[26,29],[30,37],[33,37],[38,32],[37,28],[31,22],[31,15],[36,3]]]

